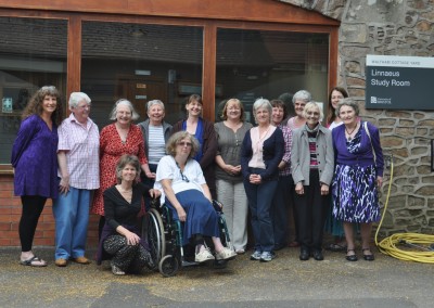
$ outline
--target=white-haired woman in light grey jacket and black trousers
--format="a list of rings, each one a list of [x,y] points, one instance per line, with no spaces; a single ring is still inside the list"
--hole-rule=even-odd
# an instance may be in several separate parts
[[[320,261],[334,152],[331,132],[320,123],[323,114],[318,104],[307,103],[303,116],[306,125],[294,131],[291,150],[299,259],[305,261],[314,256]]]

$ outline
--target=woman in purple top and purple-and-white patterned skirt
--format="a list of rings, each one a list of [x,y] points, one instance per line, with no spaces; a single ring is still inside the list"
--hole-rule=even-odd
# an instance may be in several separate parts
[[[343,99],[336,115],[344,125],[332,130],[335,153],[335,177],[332,184],[333,216],[344,222],[347,242],[346,259],[357,261],[353,223],[360,223],[363,259],[372,261],[369,247],[372,222],[380,220],[378,188],[383,182],[383,152],[379,129],[360,121],[359,107]]]

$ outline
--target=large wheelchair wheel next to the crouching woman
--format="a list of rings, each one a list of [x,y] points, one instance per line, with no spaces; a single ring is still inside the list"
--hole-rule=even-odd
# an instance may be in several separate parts
[[[144,218],[142,236],[148,239],[151,257],[154,264],[157,265],[166,254],[166,236],[162,217],[155,208],[151,208]]]

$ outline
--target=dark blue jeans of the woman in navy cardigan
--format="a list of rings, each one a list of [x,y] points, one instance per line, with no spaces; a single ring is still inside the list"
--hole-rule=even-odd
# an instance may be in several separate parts
[[[277,179],[260,184],[252,184],[248,180],[244,180],[251,210],[252,231],[255,236],[255,251],[272,252],[275,247],[270,208],[277,187]]]

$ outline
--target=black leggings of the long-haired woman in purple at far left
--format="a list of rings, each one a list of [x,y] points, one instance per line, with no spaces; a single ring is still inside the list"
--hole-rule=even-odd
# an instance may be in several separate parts
[[[21,251],[29,252],[34,244],[35,231],[38,226],[39,217],[46,205],[47,197],[40,195],[21,196],[23,211],[20,219],[20,241]]]

